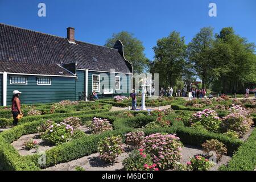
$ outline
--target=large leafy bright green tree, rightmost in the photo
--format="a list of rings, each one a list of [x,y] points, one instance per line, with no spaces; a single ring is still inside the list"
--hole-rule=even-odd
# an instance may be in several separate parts
[[[223,93],[242,92],[247,85],[256,84],[255,45],[236,35],[232,27],[222,28],[216,35],[215,59],[222,71],[213,88]],[[225,68],[225,69],[224,69]]]

